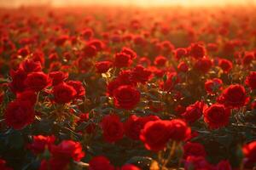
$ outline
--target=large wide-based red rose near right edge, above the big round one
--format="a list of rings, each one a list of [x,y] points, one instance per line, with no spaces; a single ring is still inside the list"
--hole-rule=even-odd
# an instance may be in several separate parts
[[[228,88],[225,88],[218,98],[219,103],[231,108],[246,105],[248,100],[245,88],[239,84],[230,85]]]

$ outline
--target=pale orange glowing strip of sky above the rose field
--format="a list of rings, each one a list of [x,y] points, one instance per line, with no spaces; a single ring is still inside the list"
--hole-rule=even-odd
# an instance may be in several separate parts
[[[77,5],[131,5],[141,7],[152,6],[226,6],[255,5],[256,0],[0,0],[1,7],[20,6],[77,6]]]

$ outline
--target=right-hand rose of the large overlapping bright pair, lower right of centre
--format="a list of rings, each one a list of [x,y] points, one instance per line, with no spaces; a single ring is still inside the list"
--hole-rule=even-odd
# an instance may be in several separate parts
[[[184,141],[191,137],[191,129],[186,122],[180,119],[173,119],[169,122],[169,137],[172,140]]]

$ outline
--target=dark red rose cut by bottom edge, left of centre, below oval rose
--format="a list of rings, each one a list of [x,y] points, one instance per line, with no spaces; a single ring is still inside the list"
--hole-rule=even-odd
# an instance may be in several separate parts
[[[89,161],[89,170],[114,170],[108,158],[105,156],[95,156]]]

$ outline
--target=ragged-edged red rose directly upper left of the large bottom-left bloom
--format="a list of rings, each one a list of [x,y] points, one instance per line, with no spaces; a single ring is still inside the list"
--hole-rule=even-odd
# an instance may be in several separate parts
[[[34,154],[41,154],[45,148],[50,148],[51,144],[54,144],[55,136],[33,136],[32,144],[28,144],[27,148],[32,150]]]

